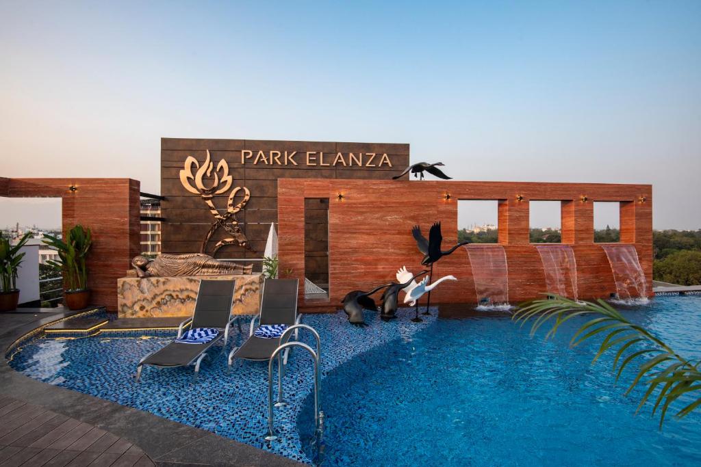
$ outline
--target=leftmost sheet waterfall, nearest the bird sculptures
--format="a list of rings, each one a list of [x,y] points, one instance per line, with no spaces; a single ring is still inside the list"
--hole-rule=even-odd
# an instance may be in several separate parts
[[[508,304],[509,279],[506,252],[501,245],[465,245],[475,279],[475,292],[480,303]]]

